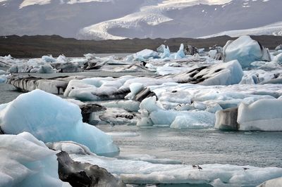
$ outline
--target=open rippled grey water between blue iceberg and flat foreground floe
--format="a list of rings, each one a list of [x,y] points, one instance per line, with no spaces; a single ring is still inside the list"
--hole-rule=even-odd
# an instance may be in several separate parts
[[[148,154],[190,165],[232,164],[282,167],[282,132],[226,132],[216,129],[138,128],[100,125],[106,132],[135,132],[114,136],[121,156]]]

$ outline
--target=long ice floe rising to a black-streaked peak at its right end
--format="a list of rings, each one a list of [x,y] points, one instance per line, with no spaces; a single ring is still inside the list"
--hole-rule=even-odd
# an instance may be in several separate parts
[[[243,77],[243,70],[237,60],[220,63],[210,67],[200,67],[177,75],[161,78],[123,76],[94,77],[82,80],[71,80],[64,96],[83,101],[121,99],[130,91],[131,84],[142,86],[160,85],[168,82],[198,83],[202,85],[238,84]]]

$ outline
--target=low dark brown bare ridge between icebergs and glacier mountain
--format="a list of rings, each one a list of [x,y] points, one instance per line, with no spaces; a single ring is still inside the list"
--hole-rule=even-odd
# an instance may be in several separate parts
[[[263,46],[275,49],[282,44],[282,37],[275,36],[253,36]],[[122,39],[122,40],[78,40],[74,38],[63,38],[58,35],[51,36],[22,36],[17,35],[0,37],[0,56],[11,56],[15,58],[41,58],[51,54],[59,56],[83,56],[85,53],[135,53],[142,49],[156,51],[161,44],[169,46],[171,51],[178,51],[181,43],[190,44],[198,48],[208,50],[209,46],[224,46],[228,36],[214,37],[209,39],[171,38],[171,39]]]

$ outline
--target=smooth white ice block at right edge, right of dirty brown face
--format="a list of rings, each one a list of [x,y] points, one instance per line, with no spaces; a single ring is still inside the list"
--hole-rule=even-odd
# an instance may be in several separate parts
[[[239,130],[282,131],[282,101],[263,99],[250,105],[241,103],[238,107]]]

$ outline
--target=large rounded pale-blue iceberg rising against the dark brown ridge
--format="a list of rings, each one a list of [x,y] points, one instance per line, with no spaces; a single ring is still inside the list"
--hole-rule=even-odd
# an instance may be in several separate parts
[[[223,47],[223,60],[238,60],[243,68],[250,67],[255,61],[271,61],[269,50],[249,36],[243,36],[235,41],[227,41]]]

